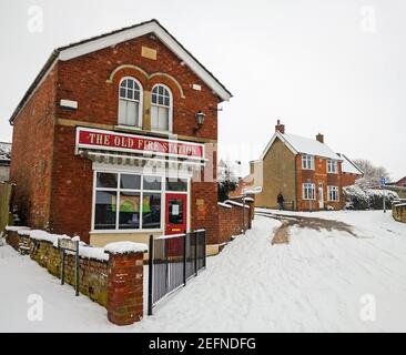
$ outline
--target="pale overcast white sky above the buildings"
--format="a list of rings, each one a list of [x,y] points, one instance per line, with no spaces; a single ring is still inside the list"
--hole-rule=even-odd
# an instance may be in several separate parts
[[[281,119],[406,175],[404,0],[1,0],[0,141],[52,49],[152,18],[234,95],[219,114],[222,158],[257,159]]]

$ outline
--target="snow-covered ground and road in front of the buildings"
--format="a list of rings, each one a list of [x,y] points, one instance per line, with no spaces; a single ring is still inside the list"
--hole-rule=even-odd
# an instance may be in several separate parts
[[[406,332],[406,225],[382,211],[292,214],[343,221],[357,236],[292,226],[288,244],[272,245],[281,222],[257,216],[153,316],[125,327],[0,246],[0,331]],[[27,318],[31,293],[43,297],[42,322]]]

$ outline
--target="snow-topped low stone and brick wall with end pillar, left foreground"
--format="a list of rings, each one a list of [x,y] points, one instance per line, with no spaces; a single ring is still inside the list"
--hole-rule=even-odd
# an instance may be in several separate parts
[[[21,234],[22,235],[21,235]],[[32,239],[27,231],[6,231],[6,241],[39,265],[61,277],[62,252],[51,241]],[[120,244],[120,243],[112,243]],[[135,244],[135,243],[132,243]],[[82,246],[92,252],[101,248]],[[143,252],[97,253],[79,257],[79,292],[108,310],[109,321],[128,325],[143,317]],[[65,254],[65,283],[74,286],[74,255]]]

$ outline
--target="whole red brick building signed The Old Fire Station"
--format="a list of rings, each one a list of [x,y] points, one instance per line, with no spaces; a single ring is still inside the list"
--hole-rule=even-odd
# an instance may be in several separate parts
[[[204,227],[215,244],[230,98],[156,20],[54,50],[10,119],[22,222],[92,245]]]

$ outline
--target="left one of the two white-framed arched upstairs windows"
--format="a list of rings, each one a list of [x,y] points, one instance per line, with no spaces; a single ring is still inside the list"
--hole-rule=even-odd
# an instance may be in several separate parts
[[[134,78],[123,78],[119,90],[119,124],[142,126],[142,87]]]

